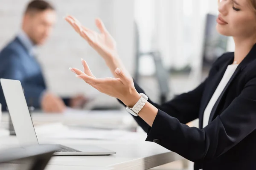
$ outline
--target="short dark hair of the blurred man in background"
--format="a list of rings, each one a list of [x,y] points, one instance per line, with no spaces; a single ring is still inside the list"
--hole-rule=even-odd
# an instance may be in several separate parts
[[[25,14],[30,12],[41,12],[45,10],[55,10],[54,7],[45,0],[32,0],[26,7]]]

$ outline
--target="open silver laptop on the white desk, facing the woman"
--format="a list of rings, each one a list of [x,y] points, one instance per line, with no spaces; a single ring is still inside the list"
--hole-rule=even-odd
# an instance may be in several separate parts
[[[38,138],[29,113],[22,85],[19,80],[0,79],[6,104],[12,119],[17,139],[21,146],[35,145]],[[116,152],[93,145],[76,145],[67,147],[61,145],[61,149],[54,155],[112,155]]]

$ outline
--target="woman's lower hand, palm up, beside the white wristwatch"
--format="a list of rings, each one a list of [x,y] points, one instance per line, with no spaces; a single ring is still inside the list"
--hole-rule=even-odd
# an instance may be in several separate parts
[[[125,75],[120,68],[116,68],[115,70],[117,78],[96,78],[93,76],[87,63],[83,59],[81,59],[81,62],[84,66],[84,72],[77,68],[70,68],[70,70],[77,74],[76,77],[83,79],[93,88],[121,100],[129,107],[133,107],[140,99],[140,94],[134,87],[133,79]]]

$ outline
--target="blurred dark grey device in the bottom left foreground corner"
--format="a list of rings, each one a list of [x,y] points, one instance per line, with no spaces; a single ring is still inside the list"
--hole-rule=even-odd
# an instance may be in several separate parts
[[[58,149],[55,144],[37,144],[0,150],[0,170],[44,170]]]

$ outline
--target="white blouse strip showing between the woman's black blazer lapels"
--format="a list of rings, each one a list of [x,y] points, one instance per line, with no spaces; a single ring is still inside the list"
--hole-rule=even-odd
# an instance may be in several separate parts
[[[227,85],[228,81],[236,71],[238,64],[228,65],[227,70],[225,71],[224,76],[221,79],[218,87],[216,88],[214,94],[212,95],[211,100],[209,101],[207,107],[204,110],[204,119],[203,119],[203,128],[208,125],[210,113],[212,111],[213,106],[217,102],[219,96],[221,95],[222,91],[224,90],[225,86]]]

